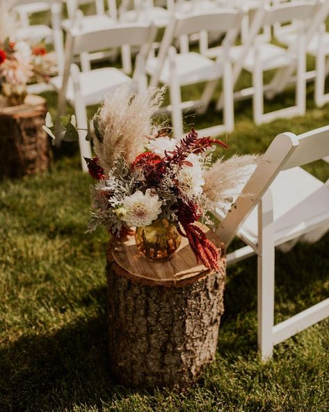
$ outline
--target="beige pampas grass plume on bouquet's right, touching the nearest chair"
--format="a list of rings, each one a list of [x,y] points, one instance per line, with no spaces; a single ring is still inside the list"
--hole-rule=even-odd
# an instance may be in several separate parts
[[[234,155],[223,161],[218,159],[204,173],[203,193],[215,204],[232,203],[232,198],[241,193],[261,157],[253,155]]]

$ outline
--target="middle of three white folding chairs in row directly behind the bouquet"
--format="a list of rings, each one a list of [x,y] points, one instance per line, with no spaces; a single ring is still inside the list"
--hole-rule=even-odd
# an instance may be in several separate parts
[[[223,79],[225,106],[223,109],[223,125],[200,130],[200,134],[219,134],[232,131],[234,127],[234,106],[232,73],[229,59],[230,47],[234,44],[241,22],[241,13],[236,10],[223,9],[211,14],[195,14],[183,17],[178,13],[172,17],[157,57],[147,59],[146,72],[150,74],[150,86],[157,86],[160,82],[168,84],[170,90],[170,106],[172,125],[176,136],[182,136],[183,109],[201,106],[198,111],[203,113],[213,95],[218,79]],[[223,39],[223,59],[212,61],[196,52],[177,53],[172,46],[175,39],[182,35],[199,33],[202,30],[220,30],[225,32]],[[209,82],[204,88],[202,97],[198,101],[182,102],[181,88],[191,84]]]

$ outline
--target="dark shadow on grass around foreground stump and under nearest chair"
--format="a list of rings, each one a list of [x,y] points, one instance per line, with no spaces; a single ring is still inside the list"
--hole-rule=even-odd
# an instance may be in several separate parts
[[[314,245],[300,244],[287,254],[277,252],[276,310],[291,316],[296,308],[326,297],[328,246],[326,236]],[[256,259],[230,267],[227,278],[218,352],[234,364],[241,356],[246,361],[256,356]],[[88,296],[103,307],[106,287],[91,290]],[[79,319],[47,335],[38,335],[38,331],[23,335],[0,351],[0,410],[71,411],[77,405],[102,410],[104,402],[111,404],[113,397],[135,392],[116,386],[108,365],[106,314]]]

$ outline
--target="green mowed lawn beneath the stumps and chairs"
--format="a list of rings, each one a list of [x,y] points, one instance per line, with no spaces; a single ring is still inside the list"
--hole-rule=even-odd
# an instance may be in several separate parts
[[[248,83],[248,77],[242,81]],[[198,88],[186,90],[189,97]],[[221,136],[233,153],[262,153],[280,132],[299,134],[329,123],[307,86],[307,114],[255,126],[251,102],[236,104],[234,133]],[[52,113],[56,96],[45,93]],[[268,108],[291,104],[294,90]],[[187,123],[216,125],[212,102]],[[95,110],[95,108],[93,109]],[[93,112],[90,111],[90,114]],[[323,182],[329,165],[307,166]],[[117,386],[107,351],[105,251],[108,235],[86,235],[91,177],[80,171],[77,145],[55,153],[49,173],[0,182],[0,411],[328,411],[329,322],[257,354],[257,261],[227,269],[225,315],[216,361],[186,393],[146,393]],[[276,253],[275,322],[329,295],[329,235]]]

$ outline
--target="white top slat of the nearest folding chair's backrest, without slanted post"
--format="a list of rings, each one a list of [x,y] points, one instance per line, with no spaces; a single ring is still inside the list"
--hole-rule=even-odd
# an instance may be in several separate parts
[[[300,134],[297,138],[298,148],[291,154],[283,169],[303,166],[329,156],[329,126]]]

